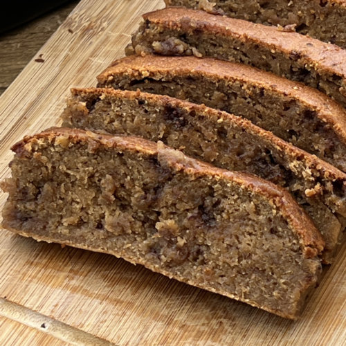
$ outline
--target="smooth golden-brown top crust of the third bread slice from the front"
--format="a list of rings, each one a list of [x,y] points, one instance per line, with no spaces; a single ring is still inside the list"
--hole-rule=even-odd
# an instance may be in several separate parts
[[[300,82],[292,82],[273,73],[255,67],[226,62],[209,57],[165,57],[160,55],[131,55],[114,61],[98,75],[98,82],[107,85],[113,74],[130,75],[134,78],[151,78],[154,75],[206,75],[211,80],[239,80],[255,84],[299,100],[318,111],[318,116],[329,122],[336,134],[346,142],[346,110],[317,89]]]

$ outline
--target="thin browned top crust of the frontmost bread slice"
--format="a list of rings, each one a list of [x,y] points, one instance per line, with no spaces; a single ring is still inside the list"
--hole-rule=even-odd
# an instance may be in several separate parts
[[[91,152],[97,149],[116,148],[122,150],[140,152],[144,155],[158,156],[161,165],[168,165],[172,170],[187,172],[191,176],[212,176],[216,179],[224,179],[235,183],[249,194],[260,194],[280,208],[282,215],[291,222],[292,230],[300,239],[300,245],[305,257],[316,257],[321,253],[324,241],[316,230],[312,221],[298,206],[291,194],[277,185],[260,179],[257,176],[242,172],[230,172],[197,161],[185,156],[183,153],[170,149],[162,143],[153,143],[149,140],[126,136],[109,136],[95,134],[81,129],[57,128],[47,129],[35,136],[26,136],[12,146],[12,151],[19,157],[28,157],[35,152],[35,147],[42,145],[46,140],[52,145],[68,147],[69,143],[88,143]]]

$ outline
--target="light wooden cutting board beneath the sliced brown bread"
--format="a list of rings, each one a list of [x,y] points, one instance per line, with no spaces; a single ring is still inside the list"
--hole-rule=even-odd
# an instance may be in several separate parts
[[[9,175],[10,145],[60,125],[69,87],[95,86],[95,75],[124,55],[140,15],[162,7],[80,2],[0,98],[0,180]],[[0,209],[6,198],[1,192]],[[53,320],[117,345],[346,345],[345,254],[346,244],[293,322],[110,255],[1,230],[0,345],[65,345]],[[9,312],[12,302],[27,309]]]

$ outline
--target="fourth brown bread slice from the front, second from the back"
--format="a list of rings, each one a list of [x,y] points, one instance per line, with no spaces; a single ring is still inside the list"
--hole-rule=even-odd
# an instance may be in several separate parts
[[[304,82],[346,107],[346,50],[293,32],[187,8],[143,15],[127,55],[195,55],[242,62]]]

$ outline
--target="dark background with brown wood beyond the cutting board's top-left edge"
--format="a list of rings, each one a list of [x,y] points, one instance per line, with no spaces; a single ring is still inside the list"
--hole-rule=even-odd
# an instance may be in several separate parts
[[[0,11],[0,95],[77,4],[78,0],[6,3],[9,10]]]

